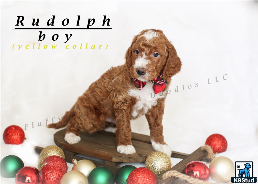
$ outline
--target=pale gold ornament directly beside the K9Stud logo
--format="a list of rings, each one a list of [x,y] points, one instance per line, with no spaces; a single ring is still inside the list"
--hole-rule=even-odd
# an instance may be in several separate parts
[[[213,180],[227,182],[235,175],[234,163],[225,156],[214,158],[209,165],[210,174]]]

